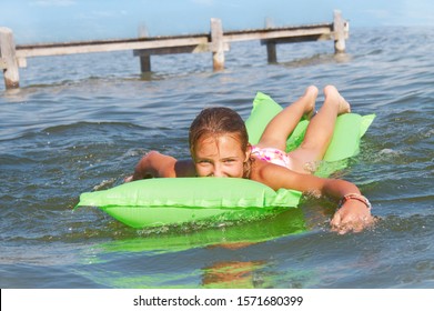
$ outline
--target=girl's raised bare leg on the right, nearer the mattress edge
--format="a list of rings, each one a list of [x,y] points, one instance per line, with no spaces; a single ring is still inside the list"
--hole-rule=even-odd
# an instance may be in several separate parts
[[[324,88],[324,104],[307,126],[302,144],[289,156],[294,169],[307,173],[305,164],[321,160],[333,137],[337,116],[351,111],[350,103],[339,93],[335,87]]]

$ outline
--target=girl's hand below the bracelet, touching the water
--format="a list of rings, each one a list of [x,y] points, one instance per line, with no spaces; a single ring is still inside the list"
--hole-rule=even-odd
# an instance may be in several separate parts
[[[330,224],[332,231],[340,234],[347,232],[361,232],[363,229],[372,225],[375,219],[371,214],[371,210],[357,200],[347,200],[334,213]]]

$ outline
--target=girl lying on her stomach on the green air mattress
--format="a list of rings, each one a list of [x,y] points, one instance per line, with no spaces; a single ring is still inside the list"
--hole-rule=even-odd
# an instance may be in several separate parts
[[[316,197],[341,199],[331,220],[332,230],[359,232],[373,223],[371,204],[356,185],[313,175],[332,139],[337,116],[350,112],[349,102],[335,87],[324,88],[324,104],[309,123],[302,144],[285,152],[286,139],[303,116],[315,111],[316,87],[283,109],[265,128],[256,146],[249,143],[244,121],[228,108],[204,109],[189,133],[191,160],[176,160],[151,151],[125,181],[151,177],[230,177],[262,182],[274,190],[294,189]]]

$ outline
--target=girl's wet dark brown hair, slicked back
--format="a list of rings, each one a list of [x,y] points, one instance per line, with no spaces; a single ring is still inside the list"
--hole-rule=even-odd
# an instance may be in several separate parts
[[[219,137],[230,134],[240,141],[243,152],[249,148],[249,134],[243,119],[234,110],[225,107],[203,109],[193,120],[189,131],[189,146],[191,156],[202,137]],[[244,177],[250,175],[251,160],[244,165]]]

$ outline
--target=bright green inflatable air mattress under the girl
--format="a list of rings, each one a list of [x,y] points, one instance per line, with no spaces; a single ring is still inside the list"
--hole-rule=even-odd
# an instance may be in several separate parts
[[[270,120],[282,110],[269,96],[259,92],[245,121],[250,142],[258,143]],[[332,142],[324,156],[321,175],[341,169],[327,165],[359,153],[361,137],[374,114],[340,116]],[[286,151],[303,140],[309,121],[301,121],[287,139]],[[265,184],[235,178],[164,178],[124,183],[112,189],[80,195],[78,207],[99,207],[114,219],[137,229],[189,222],[220,223],[256,220],[295,208],[302,193],[294,190],[274,191]]]

